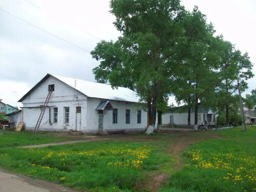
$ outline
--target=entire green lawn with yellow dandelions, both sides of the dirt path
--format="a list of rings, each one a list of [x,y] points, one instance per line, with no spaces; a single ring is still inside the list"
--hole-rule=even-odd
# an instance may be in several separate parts
[[[183,161],[171,153],[171,146],[182,143],[180,134],[126,135],[28,149],[8,147],[70,138],[44,132],[0,133],[0,167],[90,192],[148,191],[152,178],[161,173],[169,175],[161,192],[256,191],[256,127],[246,132],[233,128],[185,133],[184,141],[215,139],[192,144],[183,153],[186,164],[176,172]]]

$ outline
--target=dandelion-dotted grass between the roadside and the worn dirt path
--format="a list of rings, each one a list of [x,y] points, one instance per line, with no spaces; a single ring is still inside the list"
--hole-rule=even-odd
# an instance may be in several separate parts
[[[95,141],[44,148],[0,148],[0,166],[87,191],[132,191],[169,155],[150,143]]]

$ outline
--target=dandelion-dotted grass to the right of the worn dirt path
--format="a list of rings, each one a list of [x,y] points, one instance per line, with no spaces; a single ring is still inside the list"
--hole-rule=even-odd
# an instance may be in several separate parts
[[[208,139],[184,152],[185,166],[161,192],[256,191],[256,128],[217,131],[224,139]]]

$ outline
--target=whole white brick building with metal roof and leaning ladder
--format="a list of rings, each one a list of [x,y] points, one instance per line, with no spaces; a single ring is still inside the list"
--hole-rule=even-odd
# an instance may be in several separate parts
[[[25,129],[34,129],[50,86],[54,91],[39,130],[96,133],[145,130],[147,112],[136,92],[108,84],[47,74],[18,102],[23,104]]]

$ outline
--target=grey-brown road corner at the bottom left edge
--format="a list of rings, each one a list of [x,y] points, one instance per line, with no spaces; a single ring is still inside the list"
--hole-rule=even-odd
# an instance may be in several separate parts
[[[21,174],[11,173],[0,168],[1,192],[78,192],[74,189],[44,180],[33,179]]]

